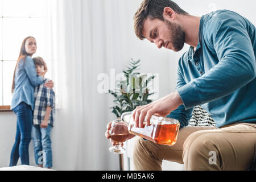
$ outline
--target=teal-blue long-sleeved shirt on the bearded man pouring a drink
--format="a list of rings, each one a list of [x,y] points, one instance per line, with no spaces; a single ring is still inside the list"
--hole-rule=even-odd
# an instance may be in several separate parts
[[[187,126],[201,105],[217,127],[256,122],[256,31],[241,15],[218,10],[200,20],[199,43],[181,56],[176,90],[183,105],[168,117]]]

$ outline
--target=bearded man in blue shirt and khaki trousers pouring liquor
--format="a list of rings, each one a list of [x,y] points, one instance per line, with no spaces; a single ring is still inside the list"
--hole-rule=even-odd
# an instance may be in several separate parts
[[[162,160],[184,163],[185,170],[246,170],[256,146],[256,31],[243,16],[217,10],[193,16],[171,0],[144,0],[134,15],[141,40],[180,51],[176,91],[133,111],[137,127],[153,114],[180,122],[177,142],[166,146],[138,137],[135,170],[161,170]],[[216,127],[188,127],[201,105]],[[111,122],[110,122],[111,123]],[[109,138],[107,126],[106,137]],[[130,138],[133,135],[130,135]],[[209,152],[216,163],[209,164]]]

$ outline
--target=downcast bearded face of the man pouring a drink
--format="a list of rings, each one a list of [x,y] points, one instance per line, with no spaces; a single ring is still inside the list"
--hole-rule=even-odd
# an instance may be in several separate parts
[[[144,20],[142,35],[158,48],[165,47],[177,52],[185,43],[185,32],[180,24],[165,19]]]

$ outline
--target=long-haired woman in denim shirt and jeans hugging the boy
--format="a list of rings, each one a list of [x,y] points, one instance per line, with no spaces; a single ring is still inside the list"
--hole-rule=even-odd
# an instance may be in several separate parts
[[[31,58],[36,52],[36,48],[36,40],[32,36],[23,40],[14,71],[11,109],[17,116],[17,125],[10,166],[16,166],[19,157],[22,164],[29,165],[28,146],[31,141],[34,87],[43,82],[43,77],[36,75],[35,64]],[[47,72],[47,67],[45,68],[44,75]],[[53,82],[48,82],[46,86],[52,88]]]

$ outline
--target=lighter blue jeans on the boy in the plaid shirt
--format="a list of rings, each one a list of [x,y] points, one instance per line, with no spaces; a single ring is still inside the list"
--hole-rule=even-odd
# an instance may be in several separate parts
[[[44,164],[44,167],[52,167],[52,147],[51,147],[52,126],[41,128],[40,125],[32,126],[32,140],[34,143],[34,153],[36,165]]]

